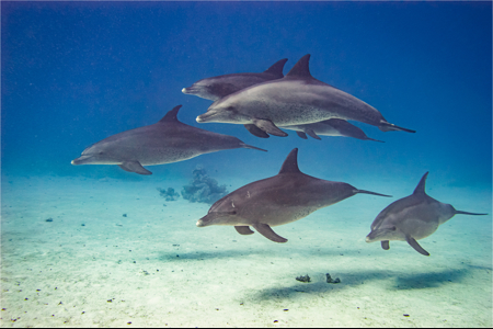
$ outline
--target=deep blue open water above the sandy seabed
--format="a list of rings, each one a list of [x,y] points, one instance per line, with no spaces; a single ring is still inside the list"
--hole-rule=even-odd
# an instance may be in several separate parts
[[[2,2],[2,183],[57,177],[157,185],[187,180],[197,164],[220,182],[251,182],[276,174],[298,147],[301,171],[365,190],[392,194],[370,185],[381,181],[411,193],[429,171],[428,182],[445,190],[491,195],[491,12],[490,2]],[[286,73],[306,54],[316,79],[416,133],[355,123],[386,143],[303,140],[294,132],[262,139],[241,125],[196,123],[210,101],[181,92],[282,58]],[[215,152],[149,167],[150,177],[70,164],[87,146],[153,124],[177,104],[183,123],[268,152]],[[491,203],[461,209],[491,213]]]

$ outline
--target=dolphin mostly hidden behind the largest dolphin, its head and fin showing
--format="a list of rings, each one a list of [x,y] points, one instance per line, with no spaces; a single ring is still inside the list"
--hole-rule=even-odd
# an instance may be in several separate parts
[[[276,61],[261,73],[232,73],[198,80],[182,92],[216,101],[246,87],[284,77],[283,69],[287,58]]]

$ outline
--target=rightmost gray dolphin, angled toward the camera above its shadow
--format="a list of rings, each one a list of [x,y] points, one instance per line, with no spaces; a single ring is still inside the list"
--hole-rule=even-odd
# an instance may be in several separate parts
[[[456,211],[450,204],[442,203],[425,192],[426,172],[413,194],[391,203],[378,214],[371,224],[367,242],[381,241],[381,248],[389,250],[390,240],[408,241],[417,252],[429,253],[416,240],[426,238],[457,214],[488,215]]]

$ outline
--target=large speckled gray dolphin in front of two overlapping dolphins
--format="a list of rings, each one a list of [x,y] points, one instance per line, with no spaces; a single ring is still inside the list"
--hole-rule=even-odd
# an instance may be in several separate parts
[[[414,131],[385,120],[380,112],[357,98],[314,79],[305,55],[282,79],[266,81],[231,93],[214,102],[198,123],[243,124],[257,136],[259,131],[274,136],[287,134],[279,126],[301,125],[342,118],[377,126],[382,132]]]

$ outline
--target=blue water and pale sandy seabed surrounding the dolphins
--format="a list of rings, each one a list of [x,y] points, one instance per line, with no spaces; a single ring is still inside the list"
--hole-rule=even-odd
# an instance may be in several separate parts
[[[473,1],[2,1],[2,326],[491,327],[491,2]],[[282,58],[287,73],[306,54],[316,79],[416,133],[353,122],[385,143],[263,139],[198,124],[211,102],[181,92]],[[268,152],[203,155],[149,177],[70,164],[179,104],[181,122]],[[276,174],[295,147],[302,172],[393,198],[320,209],[278,227],[289,239],[279,245],[197,228],[208,204],[157,191],[180,193],[202,166],[232,192]],[[420,241],[429,258],[405,242],[366,243],[378,213],[426,171],[431,196],[490,215],[440,226]],[[313,282],[295,280],[305,274]]]

